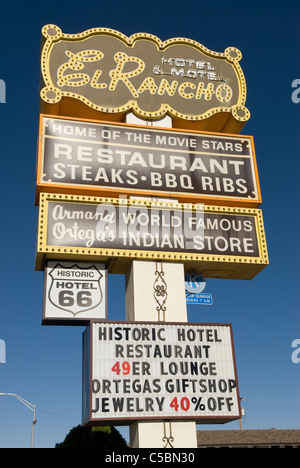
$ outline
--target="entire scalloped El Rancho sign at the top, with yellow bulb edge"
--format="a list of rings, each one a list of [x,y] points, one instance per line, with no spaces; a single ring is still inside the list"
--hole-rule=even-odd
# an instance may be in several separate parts
[[[108,28],[64,34],[51,24],[42,34],[43,113],[96,112],[118,121],[129,111],[143,119],[169,114],[173,127],[188,122],[199,129],[206,120],[206,129],[228,133],[238,133],[250,117],[242,55],[235,47],[219,53],[190,39],[162,42]]]

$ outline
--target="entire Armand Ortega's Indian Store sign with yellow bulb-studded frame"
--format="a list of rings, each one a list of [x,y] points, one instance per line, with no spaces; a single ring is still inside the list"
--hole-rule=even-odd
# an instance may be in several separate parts
[[[37,269],[45,259],[88,259],[124,273],[137,258],[251,279],[268,264],[261,211],[41,194]]]

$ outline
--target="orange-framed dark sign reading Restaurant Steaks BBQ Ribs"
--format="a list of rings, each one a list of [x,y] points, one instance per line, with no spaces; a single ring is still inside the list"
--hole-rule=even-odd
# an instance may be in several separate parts
[[[38,191],[260,203],[252,137],[45,116],[41,127]]]

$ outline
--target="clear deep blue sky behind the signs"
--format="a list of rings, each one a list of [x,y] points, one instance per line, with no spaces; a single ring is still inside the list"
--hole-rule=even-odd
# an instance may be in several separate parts
[[[35,447],[54,447],[81,423],[82,327],[41,326],[43,274],[34,270],[34,206],[41,29],[65,33],[108,27],[130,36],[194,39],[211,50],[241,50],[262,191],[270,265],[251,281],[207,280],[213,306],[188,306],[190,322],[233,325],[244,429],[300,426],[300,363],[292,342],[299,321],[299,114],[291,83],[300,79],[299,3],[290,1],[74,2],[2,0],[0,79],[1,294],[0,393],[37,405]],[[125,285],[109,276],[111,320],[125,320]],[[298,354],[298,356],[300,353]],[[31,412],[0,396],[0,447],[29,447]],[[223,429],[239,429],[235,421]],[[219,426],[198,426],[219,429]],[[127,438],[127,429],[122,429]]]

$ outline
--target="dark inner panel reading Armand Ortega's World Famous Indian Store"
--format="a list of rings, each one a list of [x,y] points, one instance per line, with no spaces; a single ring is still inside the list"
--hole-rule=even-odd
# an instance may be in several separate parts
[[[253,216],[106,203],[50,202],[47,244],[259,256]]]

